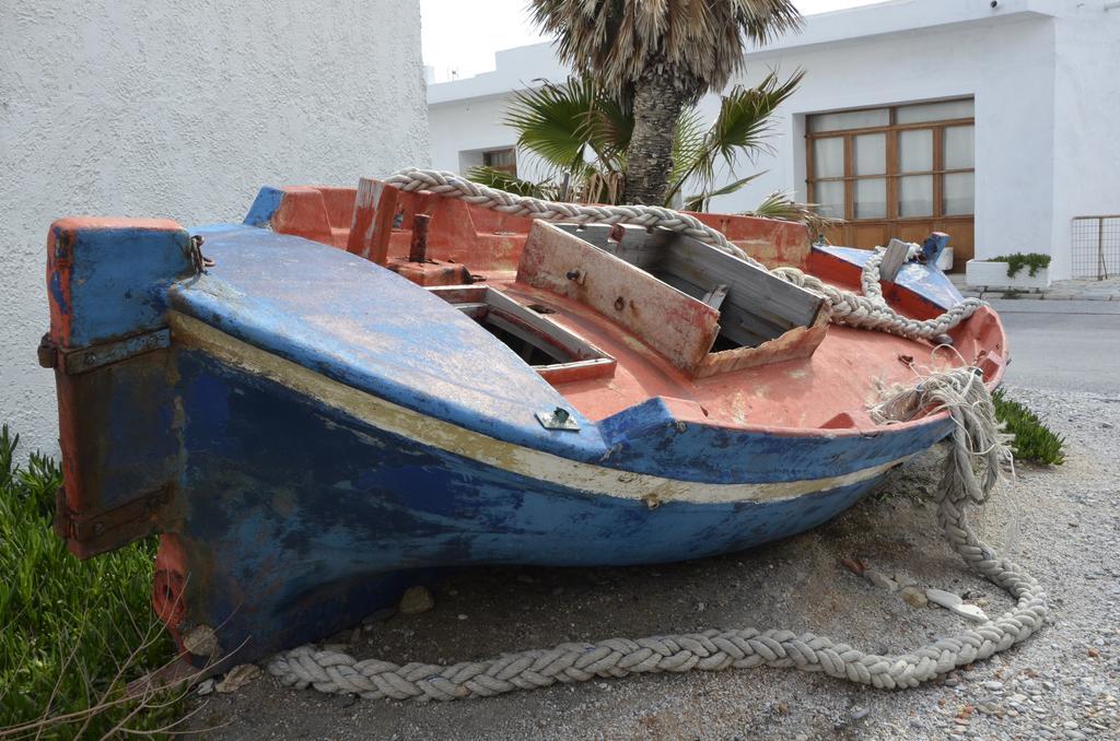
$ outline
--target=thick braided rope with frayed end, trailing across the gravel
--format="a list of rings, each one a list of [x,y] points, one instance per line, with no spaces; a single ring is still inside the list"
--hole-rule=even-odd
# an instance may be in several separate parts
[[[823,672],[884,690],[915,687],[1026,639],[1042,626],[1047,612],[1038,583],[980,542],[965,517],[965,507],[987,499],[1000,465],[1010,460],[988,390],[972,368],[958,368],[896,392],[872,413],[884,420],[903,420],[930,409],[946,410],[956,424],[939,494],[937,516],[945,538],[970,568],[1017,600],[1015,608],[974,629],[892,656],[865,653],[811,632],[755,628],[560,644],[451,666],[360,662],[347,654],[302,646],[274,656],[269,672],[282,684],[299,688],[420,701],[489,697],[596,677],[763,665]],[[974,472],[973,461],[981,463],[981,476]]]

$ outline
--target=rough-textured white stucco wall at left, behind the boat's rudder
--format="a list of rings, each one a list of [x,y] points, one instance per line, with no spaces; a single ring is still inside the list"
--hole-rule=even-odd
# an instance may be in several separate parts
[[[55,218],[240,221],[264,184],[427,165],[420,11],[395,0],[0,3],[0,421],[56,450]]]

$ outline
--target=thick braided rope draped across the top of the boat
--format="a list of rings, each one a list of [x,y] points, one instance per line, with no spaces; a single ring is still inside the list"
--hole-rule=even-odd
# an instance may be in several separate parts
[[[864,266],[862,288],[865,296],[838,289],[821,279],[809,275],[796,268],[769,270],[743,250],[734,245],[719,229],[702,223],[696,216],[682,214],[661,206],[594,206],[542,200],[530,196],[517,196],[477,182],[472,182],[455,172],[407,168],[390,176],[385,182],[401,190],[427,190],[446,198],[460,198],[468,204],[491,208],[511,216],[540,218],[547,222],[570,222],[573,224],[636,224],[648,228],[659,227],[678,232],[706,242],[760,270],[800,285],[828,302],[832,320],[874,329],[908,339],[935,339],[971,317],[984,306],[979,299],[964,299],[945,313],[933,319],[916,320],[904,317],[886,301],[879,289],[879,263],[883,253],[877,252]]]

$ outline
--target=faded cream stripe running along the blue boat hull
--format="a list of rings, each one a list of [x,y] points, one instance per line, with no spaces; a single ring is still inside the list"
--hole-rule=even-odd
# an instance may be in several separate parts
[[[769,484],[702,484],[622,471],[517,445],[405,409],[253,347],[180,312],[170,312],[170,325],[176,343],[197,347],[227,365],[269,378],[377,429],[530,479],[650,505],[793,499],[861,484],[909,458],[905,456],[842,476]]]

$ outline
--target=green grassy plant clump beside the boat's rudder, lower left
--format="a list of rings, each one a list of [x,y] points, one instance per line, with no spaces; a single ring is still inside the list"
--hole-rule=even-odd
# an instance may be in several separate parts
[[[175,656],[149,606],[149,538],[78,561],[52,532],[58,465],[16,462],[0,429],[0,737],[102,738],[166,730],[181,696],[127,683]]]

